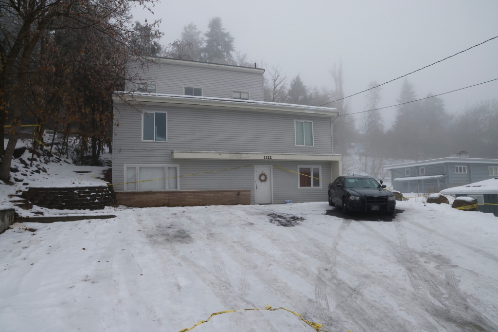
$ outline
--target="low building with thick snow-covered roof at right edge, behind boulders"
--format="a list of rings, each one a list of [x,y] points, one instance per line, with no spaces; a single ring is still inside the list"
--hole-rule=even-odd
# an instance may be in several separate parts
[[[475,198],[479,204],[479,211],[493,213],[498,217],[498,177],[444,189],[441,193]]]

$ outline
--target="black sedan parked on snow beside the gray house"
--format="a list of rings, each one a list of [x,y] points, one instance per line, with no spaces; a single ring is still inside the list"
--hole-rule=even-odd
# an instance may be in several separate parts
[[[384,189],[370,176],[339,176],[329,184],[329,205],[340,205],[345,214],[350,211],[380,211],[393,214],[394,194]]]

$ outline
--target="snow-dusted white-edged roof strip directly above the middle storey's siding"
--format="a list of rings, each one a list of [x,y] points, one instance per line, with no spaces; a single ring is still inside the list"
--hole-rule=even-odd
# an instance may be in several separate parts
[[[305,113],[308,115],[318,116],[338,116],[339,112],[335,108],[321,107],[321,106],[308,106],[296,105],[285,103],[272,103],[258,100],[241,100],[230,98],[216,98],[216,97],[198,97],[198,96],[185,96],[185,95],[170,95],[162,93],[146,93],[146,92],[114,92],[113,99],[115,102],[138,102],[138,103],[159,103],[159,104],[172,104],[172,105],[189,105],[194,107],[216,107],[224,109],[248,109],[254,111],[267,111],[267,112],[291,112],[291,113]]]

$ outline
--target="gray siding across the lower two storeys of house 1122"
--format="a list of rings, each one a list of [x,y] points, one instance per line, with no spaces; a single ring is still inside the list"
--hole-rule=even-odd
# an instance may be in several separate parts
[[[321,166],[322,178],[330,181],[330,162],[264,162],[230,160],[171,160],[171,151],[225,151],[260,153],[332,153],[330,118],[275,113],[189,109],[154,106],[150,111],[167,112],[167,142],[142,142],[142,115],[115,105],[113,135],[113,183],[124,182],[125,164],[179,165],[180,175],[245,165],[278,165],[297,171],[301,166]],[[118,111],[119,110],[119,111]],[[313,121],[314,147],[296,147],[294,121]],[[298,188],[297,174],[273,167],[274,203],[322,201],[322,188]],[[180,178],[180,190],[251,189],[254,202],[253,167]],[[123,191],[124,185],[114,190]]]

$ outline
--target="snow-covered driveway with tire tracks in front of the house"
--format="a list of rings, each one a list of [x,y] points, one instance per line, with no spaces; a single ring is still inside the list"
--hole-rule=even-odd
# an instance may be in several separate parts
[[[326,331],[497,331],[497,217],[397,208],[117,208],[108,220],[15,224],[0,235],[0,330],[178,332],[270,305]],[[193,331],[313,329],[248,311]]]

